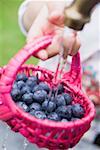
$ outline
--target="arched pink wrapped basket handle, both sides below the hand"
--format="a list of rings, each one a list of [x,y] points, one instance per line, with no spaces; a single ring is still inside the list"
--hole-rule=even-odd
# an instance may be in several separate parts
[[[53,36],[51,35],[36,39],[34,42],[29,43],[24,48],[22,48],[21,51],[19,51],[19,53],[10,60],[0,80],[0,91],[2,93],[8,93],[11,91],[16,74],[20,70],[20,67],[26,62],[26,60],[32,55],[34,56],[41,49],[48,47],[52,43],[52,40]],[[79,54],[73,57],[71,71],[75,71],[75,68],[79,66],[79,60]],[[76,63],[76,61],[79,61],[79,64]],[[77,67],[75,64],[77,64]]]

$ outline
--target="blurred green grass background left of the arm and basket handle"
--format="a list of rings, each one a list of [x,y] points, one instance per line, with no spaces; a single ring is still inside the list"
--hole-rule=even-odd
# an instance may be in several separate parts
[[[6,65],[25,44],[18,25],[18,8],[23,0],[0,0],[0,66]],[[28,63],[37,63],[31,58]]]

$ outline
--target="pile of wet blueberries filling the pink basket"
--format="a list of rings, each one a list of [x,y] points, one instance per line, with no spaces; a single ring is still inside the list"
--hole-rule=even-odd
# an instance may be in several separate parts
[[[38,76],[18,74],[11,96],[20,108],[39,119],[67,122],[80,119],[85,113],[80,104],[72,104],[73,97],[64,92],[62,84],[51,89]]]

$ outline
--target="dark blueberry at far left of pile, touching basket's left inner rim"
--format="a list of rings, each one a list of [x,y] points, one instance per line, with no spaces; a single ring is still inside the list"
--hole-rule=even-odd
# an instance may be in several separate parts
[[[20,93],[20,90],[19,89],[12,89],[11,91],[11,96],[12,96],[12,99],[17,102],[21,99],[21,93]]]

